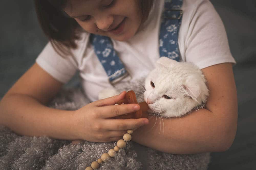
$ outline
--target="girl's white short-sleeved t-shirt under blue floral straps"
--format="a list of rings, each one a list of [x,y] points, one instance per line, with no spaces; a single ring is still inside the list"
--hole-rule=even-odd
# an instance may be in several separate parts
[[[129,41],[112,40],[114,49],[133,80],[147,75],[159,59],[159,28],[164,0],[156,1],[146,27]],[[215,64],[236,63],[229,49],[223,23],[209,0],[183,0],[183,18],[178,35],[181,60],[193,62],[200,69]],[[62,58],[48,43],[36,59],[39,66],[60,82],[68,82],[79,70],[82,86],[91,101],[112,85],[89,43],[89,33],[82,33],[74,58]],[[127,81],[123,79],[123,81]]]

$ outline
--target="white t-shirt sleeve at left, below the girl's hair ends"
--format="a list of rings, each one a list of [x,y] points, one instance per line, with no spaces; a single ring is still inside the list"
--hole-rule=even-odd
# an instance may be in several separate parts
[[[77,62],[71,56],[60,56],[50,42],[45,46],[39,56],[36,58],[36,63],[56,80],[67,83],[76,73],[78,68]]]

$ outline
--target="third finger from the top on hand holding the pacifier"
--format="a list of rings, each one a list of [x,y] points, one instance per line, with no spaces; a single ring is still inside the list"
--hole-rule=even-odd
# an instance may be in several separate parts
[[[108,130],[128,130],[137,129],[148,124],[147,118],[140,119],[108,119],[105,120],[105,128]]]

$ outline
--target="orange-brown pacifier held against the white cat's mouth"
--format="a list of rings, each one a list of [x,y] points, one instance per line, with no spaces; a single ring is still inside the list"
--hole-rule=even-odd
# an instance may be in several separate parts
[[[136,95],[133,90],[127,91],[125,98],[122,100],[119,100],[116,104],[132,104],[132,103],[139,104],[141,109],[136,112],[133,112],[133,113],[127,113],[127,114],[123,114],[120,116],[115,116],[114,118],[138,119],[138,118],[147,118],[148,117],[147,110],[149,108],[148,108],[147,103],[145,101],[138,103],[137,99],[136,99]]]

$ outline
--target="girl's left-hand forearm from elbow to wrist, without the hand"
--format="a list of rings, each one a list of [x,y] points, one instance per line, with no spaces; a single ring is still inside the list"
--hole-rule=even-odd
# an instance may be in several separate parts
[[[7,95],[0,102],[0,125],[26,136],[76,139],[71,116],[72,111],[48,108],[22,94]]]

